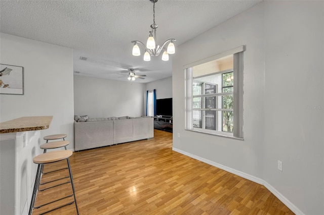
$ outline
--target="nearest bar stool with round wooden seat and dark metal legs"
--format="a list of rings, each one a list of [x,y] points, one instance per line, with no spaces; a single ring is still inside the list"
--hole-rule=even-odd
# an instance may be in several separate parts
[[[66,204],[63,204],[63,205],[61,205],[59,207],[56,207],[56,208],[51,209],[49,211],[46,211],[44,213],[47,213],[47,212],[56,210],[58,208],[64,207],[66,205],[75,203],[76,212],[77,212],[77,214],[79,214],[78,209],[77,209],[76,199],[75,199],[75,190],[74,190],[74,184],[73,184],[73,177],[72,177],[72,172],[71,172],[71,167],[70,167],[70,162],[69,162],[69,157],[72,155],[72,153],[73,152],[70,151],[70,150],[50,151],[50,152],[47,152],[47,153],[44,153],[44,154],[39,154],[39,155],[37,155],[37,156],[35,156],[33,158],[33,163],[37,164],[38,166],[37,166],[37,173],[36,173],[34,189],[33,189],[33,192],[32,192],[32,198],[31,198],[31,201],[30,201],[30,207],[29,207],[29,213],[28,213],[29,215],[31,215],[33,209],[43,207],[45,205],[54,203],[56,201],[60,201],[62,199],[65,199],[65,198],[68,198],[68,197],[71,197],[71,196],[74,197],[74,201],[68,202]],[[67,167],[69,169],[70,181],[69,182],[64,182],[64,183],[61,183],[61,184],[58,184],[58,185],[54,185],[52,187],[48,187],[48,188],[45,188],[45,189],[42,189],[42,190],[38,190],[39,185],[41,184],[42,172],[43,172],[44,164],[55,163],[55,162],[59,162],[59,161],[64,160],[64,159],[66,159]],[[68,177],[64,177],[64,178],[68,178]],[[59,181],[59,180],[64,179],[64,178],[55,179],[53,181],[46,182],[44,184],[51,183],[51,182],[54,182],[54,181]],[[54,200],[54,201],[51,201],[51,202],[48,202],[46,204],[42,204],[42,205],[34,207],[37,191],[44,191],[44,190],[51,189],[53,187],[58,187],[60,185],[67,184],[67,183],[71,183],[73,194],[65,196],[65,197],[57,199],[57,200]]]

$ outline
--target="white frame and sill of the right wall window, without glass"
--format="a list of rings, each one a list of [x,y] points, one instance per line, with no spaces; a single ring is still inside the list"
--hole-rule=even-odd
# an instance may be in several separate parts
[[[225,51],[218,55],[203,59],[183,67],[185,71],[185,129],[189,131],[202,132],[207,134],[220,135],[225,137],[232,137],[243,139],[243,52],[245,46],[239,46],[231,50]],[[214,61],[225,56],[233,55],[233,133],[223,131],[213,131],[208,129],[200,129],[193,127],[193,95],[192,95],[192,84],[193,84],[193,67],[204,64],[210,61]],[[228,93],[214,93],[207,94],[211,95],[227,95]],[[209,111],[209,109],[206,109]],[[214,109],[213,109],[214,110]],[[216,111],[229,111],[228,109],[215,109]]]

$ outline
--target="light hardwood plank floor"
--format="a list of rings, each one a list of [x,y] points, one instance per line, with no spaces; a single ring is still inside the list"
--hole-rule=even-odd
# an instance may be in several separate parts
[[[172,133],[164,131],[154,130],[151,140],[74,152],[70,163],[79,214],[294,214],[264,186],[172,151]],[[38,192],[36,205],[70,193],[70,184]],[[49,214],[75,212],[72,204]]]

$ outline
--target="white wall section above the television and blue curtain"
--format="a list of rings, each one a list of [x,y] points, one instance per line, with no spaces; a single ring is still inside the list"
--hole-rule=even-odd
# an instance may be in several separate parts
[[[172,76],[146,84],[146,90],[156,89],[156,99],[172,98]]]

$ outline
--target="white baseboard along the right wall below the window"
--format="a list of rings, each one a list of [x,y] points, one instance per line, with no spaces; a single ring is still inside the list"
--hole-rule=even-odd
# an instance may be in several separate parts
[[[212,162],[211,160],[205,159],[203,157],[196,156],[194,154],[190,154],[186,151],[182,151],[180,149],[172,147],[173,151],[179,152],[181,154],[184,154],[188,157],[194,158],[196,160],[200,160],[201,162],[204,162],[206,164],[209,164],[213,167],[217,167],[219,169],[225,170],[226,172],[232,173],[234,175],[240,176],[242,178],[248,179],[250,181],[253,181],[255,183],[261,184],[265,186],[273,195],[275,195],[282,203],[284,203],[289,209],[291,209],[296,215],[305,215],[296,205],[294,205],[292,202],[290,202],[284,195],[282,195],[279,191],[277,191],[274,187],[272,187],[268,182],[264,181],[263,179],[260,179],[258,177],[249,175],[247,173],[226,167],[224,165],[218,164],[216,162]]]

